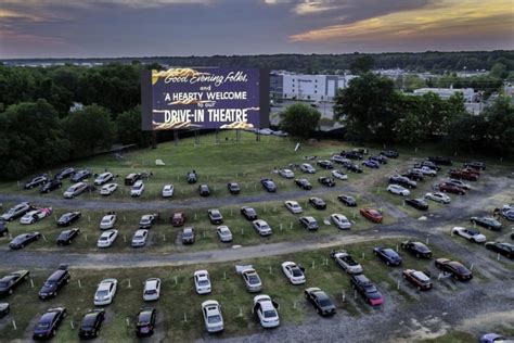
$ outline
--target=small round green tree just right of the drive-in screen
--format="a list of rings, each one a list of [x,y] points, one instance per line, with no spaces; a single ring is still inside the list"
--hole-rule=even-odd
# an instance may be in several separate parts
[[[321,113],[304,103],[295,103],[287,106],[280,114],[280,128],[290,135],[308,138],[317,127]]]

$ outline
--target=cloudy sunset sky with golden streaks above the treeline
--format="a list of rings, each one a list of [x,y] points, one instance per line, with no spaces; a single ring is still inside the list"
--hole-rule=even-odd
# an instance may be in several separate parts
[[[514,0],[0,0],[0,59],[514,49]]]

